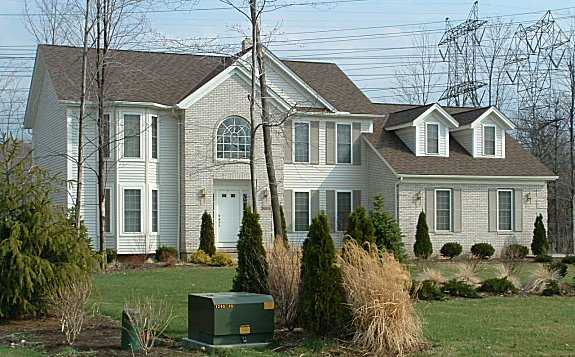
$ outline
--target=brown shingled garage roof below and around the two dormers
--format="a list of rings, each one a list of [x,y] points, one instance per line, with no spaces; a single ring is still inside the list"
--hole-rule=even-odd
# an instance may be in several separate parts
[[[450,136],[449,157],[416,156],[393,131],[375,119],[373,133],[364,137],[399,175],[554,177],[555,174],[509,135],[505,158],[474,158]]]

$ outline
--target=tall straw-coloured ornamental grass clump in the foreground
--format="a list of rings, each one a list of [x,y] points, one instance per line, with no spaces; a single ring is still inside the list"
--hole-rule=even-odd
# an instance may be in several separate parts
[[[369,248],[369,247],[368,247]],[[410,301],[411,276],[375,245],[345,242],[339,264],[353,315],[352,342],[376,355],[403,355],[426,345],[423,325]]]

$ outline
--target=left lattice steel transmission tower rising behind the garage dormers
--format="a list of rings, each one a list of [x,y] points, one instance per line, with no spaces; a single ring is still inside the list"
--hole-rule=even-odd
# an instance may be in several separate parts
[[[445,33],[438,46],[441,59],[447,62],[447,88],[439,100],[446,100],[448,105],[477,107],[481,102],[479,89],[485,83],[477,80],[476,59],[486,23],[478,19],[477,1],[461,24],[451,27],[449,18],[445,19]]]

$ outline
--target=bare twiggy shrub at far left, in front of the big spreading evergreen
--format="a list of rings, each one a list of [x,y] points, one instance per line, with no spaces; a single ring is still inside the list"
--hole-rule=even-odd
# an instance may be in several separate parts
[[[73,345],[82,331],[85,306],[92,293],[92,280],[79,279],[55,289],[52,293],[54,312],[62,323],[66,342]]]

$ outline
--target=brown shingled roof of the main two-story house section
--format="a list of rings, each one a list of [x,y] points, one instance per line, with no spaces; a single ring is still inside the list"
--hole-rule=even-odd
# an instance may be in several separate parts
[[[78,101],[82,49],[40,45],[38,52],[59,100]],[[110,51],[106,94],[110,101],[175,105],[233,64],[238,56]],[[95,56],[95,51],[90,56]],[[372,103],[333,63],[281,61],[338,111],[370,113]],[[94,63],[92,59],[89,63]],[[94,71],[91,70],[90,73]],[[93,81],[92,81],[93,82]],[[92,97],[95,97],[92,85]]]

